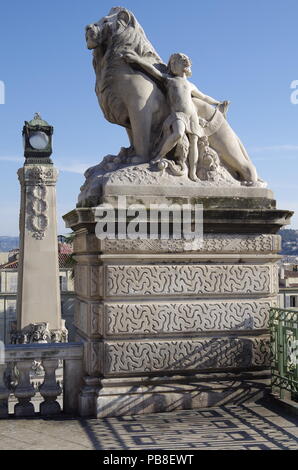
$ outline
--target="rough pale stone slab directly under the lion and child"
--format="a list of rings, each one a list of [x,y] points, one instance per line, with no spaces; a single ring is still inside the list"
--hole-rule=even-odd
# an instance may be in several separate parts
[[[98,204],[100,198],[109,202],[113,195],[138,196],[143,201],[156,202],[156,197],[237,197],[273,199],[266,183],[257,182],[253,187],[241,185],[221,166],[212,181],[191,181],[187,175],[174,176],[160,173],[149,164],[121,165],[106,170],[100,163],[85,172],[86,181],[78,198],[80,205]],[[159,199],[159,202],[166,202]],[[90,205],[90,203],[89,203]]]

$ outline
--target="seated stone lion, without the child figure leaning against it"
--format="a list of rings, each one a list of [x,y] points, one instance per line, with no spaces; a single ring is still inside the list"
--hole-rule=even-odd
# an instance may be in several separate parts
[[[149,162],[170,111],[166,90],[153,76],[127,63],[133,51],[161,71],[166,65],[148,41],[135,16],[114,7],[100,21],[86,27],[88,49],[93,50],[96,94],[105,118],[126,128],[132,162]],[[205,134],[221,163],[238,180],[253,184],[257,172],[243,144],[219,109],[193,98],[198,115],[206,120]]]

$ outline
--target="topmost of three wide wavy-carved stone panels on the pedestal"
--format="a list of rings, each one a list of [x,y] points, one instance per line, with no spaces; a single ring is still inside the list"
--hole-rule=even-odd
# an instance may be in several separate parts
[[[132,265],[107,267],[107,295],[263,294],[270,265]]]

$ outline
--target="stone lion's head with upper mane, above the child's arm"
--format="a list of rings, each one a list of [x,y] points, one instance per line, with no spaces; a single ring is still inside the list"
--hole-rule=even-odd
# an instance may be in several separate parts
[[[133,47],[139,55],[151,56],[157,63],[162,62],[143,28],[126,8],[113,7],[107,16],[89,24],[86,27],[86,42],[88,49],[101,47],[104,53],[113,48],[114,52],[121,54]]]

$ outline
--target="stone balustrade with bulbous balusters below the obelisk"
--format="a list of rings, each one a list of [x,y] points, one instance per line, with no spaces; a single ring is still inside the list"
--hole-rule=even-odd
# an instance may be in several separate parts
[[[14,396],[16,417],[35,415],[32,399],[37,392],[43,398],[41,416],[57,415],[61,406],[57,398],[62,388],[56,372],[63,361],[63,412],[77,414],[78,397],[82,380],[83,345],[80,343],[9,345],[5,348],[5,361],[0,363],[0,418],[9,415],[8,402]],[[39,362],[44,369],[42,382],[36,389],[32,384],[32,364]],[[9,369],[14,370],[16,383],[8,379]]]

